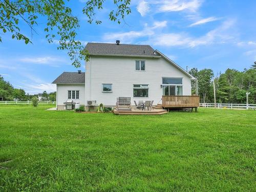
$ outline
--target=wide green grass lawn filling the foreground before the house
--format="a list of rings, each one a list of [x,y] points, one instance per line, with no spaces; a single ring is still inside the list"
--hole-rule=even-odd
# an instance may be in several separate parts
[[[0,105],[0,191],[255,191],[256,111]]]

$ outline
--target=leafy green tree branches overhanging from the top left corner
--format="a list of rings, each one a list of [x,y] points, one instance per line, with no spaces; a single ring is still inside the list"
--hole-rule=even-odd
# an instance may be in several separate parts
[[[94,22],[96,10],[103,9],[105,0],[88,0],[82,8],[83,14],[87,15],[88,23]],[[108,1],[109,2],[109,1]],[[24,40],[25,44],[32,43],[30,38],[19,29],[20,20],[23,20],[31,31],[31,36],[36,33],[34,26],[37,25],[39,16],[46,19],[46,39],[49,43],[57,39],[59,50],[68,50],[72,65],[76,68],[81,66],[81,60],[88,60],[89,54],[83,50],[81,42],[76,39],[77,30],[80,27],[79,20],[72,15],[68,2],[63,0],[2,0],[0,1],[0,30],[8,32],[12,38]],[[121,23],[124,17],[131,13],[131,0],[113,0],[115,7],[109,13],[109,19]],[[100,20],[95,20],[101,24]],[[1,33],[0,33],[1,34]],[[2,38],[0,36],[0,42]]]

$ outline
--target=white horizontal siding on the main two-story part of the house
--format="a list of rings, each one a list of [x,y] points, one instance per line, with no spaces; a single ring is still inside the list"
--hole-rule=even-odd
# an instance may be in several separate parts
[[[145,61],[146,71],[135,70],[136,60]],[[191,95],[190,77],[164,58],[134,58],[114,56],[91,56],[86,63],[86,101],[96,100],[97,104],[115,105],[117,97],[134,97],[134,84],[148,84],[148,100],[154,104],[161,101],[163,77],[182,77],[182,95]],[[102,83],[111,82],[114,89],[111,94],[102,92]],[[180,84],[181,85],[181,84]]]

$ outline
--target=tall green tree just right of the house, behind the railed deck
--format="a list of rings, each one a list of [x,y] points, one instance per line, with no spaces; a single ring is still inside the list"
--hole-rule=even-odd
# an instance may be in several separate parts
[[[211,69],[203,69],[198,72],[198,91],[199,95],[203,97],[203,102],[206,102],[212,89],[211,79],[213,76],[214,72]]]

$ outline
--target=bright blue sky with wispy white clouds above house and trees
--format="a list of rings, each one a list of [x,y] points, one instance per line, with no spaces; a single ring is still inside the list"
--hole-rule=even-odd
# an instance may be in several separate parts
[[[110,0],[97,12],[102,24],[88,24],[82,14],[84,2],[68,3],[80,19],[77,39],[83,45],[116,39],[123,44],[151,45],[184,69],[211,68],[215,75],[227,68],[242,71],[256,61],[256,1],[132,0],[132,13],[120,25],[108,20]],[[54,91],[51,82],[58,75],[78,70],[71,66],[66,51],[47,42],[44,28],[45,24],[35,27],[38,35],[33,35],[30,45],[13,40],[11,34],[0,34],[0,74],[30,94]],[[31,38],[25,24],[21,29]],[[80,69],[84,71],[84,65]]]

